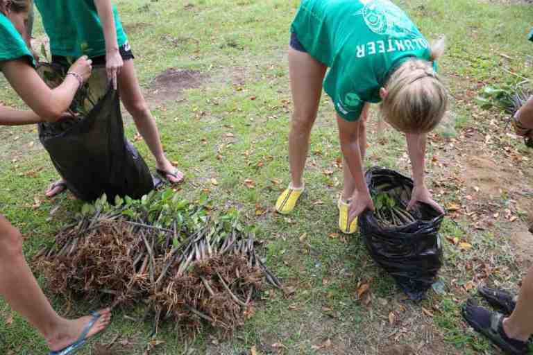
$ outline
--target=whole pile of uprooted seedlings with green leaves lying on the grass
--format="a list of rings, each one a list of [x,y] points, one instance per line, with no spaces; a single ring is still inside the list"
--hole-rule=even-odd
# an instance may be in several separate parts
[[[143,302],[183,329],[242,324],[265,284],[280,287],[255,254],[253,234],[230,211],[210,217],[174,191],[141,200],[105,195],[35,257],[53,292],[129,306]]]

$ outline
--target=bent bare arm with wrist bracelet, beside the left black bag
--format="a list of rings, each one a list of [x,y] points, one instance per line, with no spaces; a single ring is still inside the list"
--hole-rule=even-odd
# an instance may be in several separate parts
[[[0,70],[24,103],[43,121],[58,121],[69,108],[80,86],[76,76],[67,75],[61,85],[56,89],[50,89],[37,71],[22,58],[0,62]],[[83,56],[72,64],[69,71],[78,74],[82,80],[87,80],[92,71],[91,60]],[[19,118],[33,121],[35,116],[19,116]]]

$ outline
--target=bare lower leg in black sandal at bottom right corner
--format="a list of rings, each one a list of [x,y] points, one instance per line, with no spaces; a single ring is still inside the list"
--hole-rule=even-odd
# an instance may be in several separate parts
[[[509,338],[527,341],[533,334],[533,267],[522,280],[516,308],[503,321],[503,329]]]

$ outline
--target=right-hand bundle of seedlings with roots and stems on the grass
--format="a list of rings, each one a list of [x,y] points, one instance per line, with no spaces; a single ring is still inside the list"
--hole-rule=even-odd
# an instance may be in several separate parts
[[[244,323],[264,279],[281,287],[256,256],[252,235],[235,224],[202,230],[174,259],[164,263],[160,278],[169,277],[156,283],[151,302],[158,314],[190,331],[206,321],[230,333]]]

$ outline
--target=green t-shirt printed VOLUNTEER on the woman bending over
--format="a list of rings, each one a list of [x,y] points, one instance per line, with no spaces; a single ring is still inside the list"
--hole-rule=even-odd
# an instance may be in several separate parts
[[[381,101],[391,68],[410,57],[430,60],[428,41],[389,0],[302,0],[291,32],[330,68],[324,90],[346,121]]]

